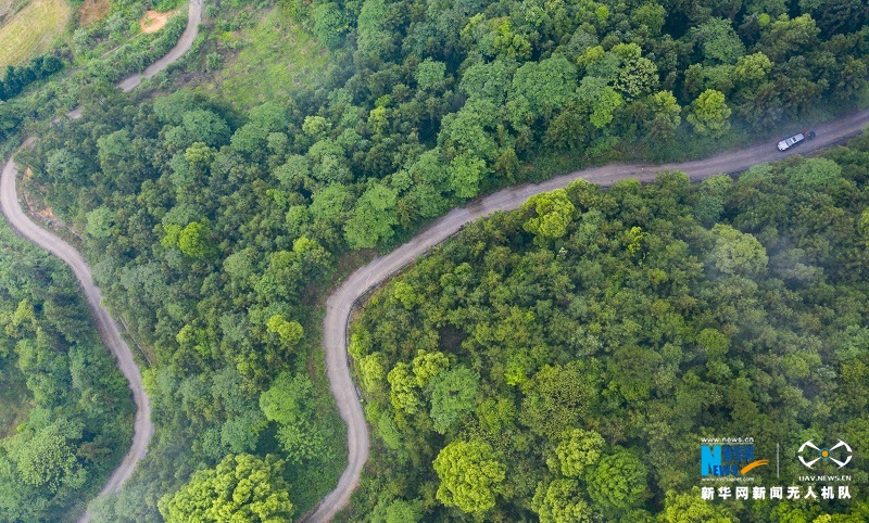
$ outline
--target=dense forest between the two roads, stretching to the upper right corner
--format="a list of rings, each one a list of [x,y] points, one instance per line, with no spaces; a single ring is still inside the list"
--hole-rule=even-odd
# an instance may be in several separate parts
[[[264,494],[288,488],[277,514],[311,508],[345,456],[319,352],[335,278],[496,187],[700,154],[861,103],[867,11],[837,5],[288,2],[275,9],[329,48],[311,88],[250,110],[180,72],[161,85],[191,88],[162,98],[105,81],[62,91],[84,117],[34,125],[39,141],[18,154],[27,190],[83,235],[149,353],[158,425],[96,519],[184,520],[205,510],[203,492],[251,476]],[[202,75],[234,60],[221,42],[238,21],[263,15],[239,1],[206,12],[188,63]],[[0,129],[48,111],[41,95],[0,104]],[[214,501],[211,513],[231,510]]]

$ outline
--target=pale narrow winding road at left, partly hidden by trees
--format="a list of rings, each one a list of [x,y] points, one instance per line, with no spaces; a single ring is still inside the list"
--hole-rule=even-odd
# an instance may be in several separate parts
[[[199,24],[201,22],[202,0],[191,0],[187,16],[187,27],[175,47],[173,47],[165,56],[146,68],[143,73],[130,76],[121,81],[118,87],[124,91],[130,91],[138,87],[143,78],[154,76],[181,58],[193,44],[197,35],[199,35]],[[67,116],[76,118],[80,115],[80,111],[75,110]],[[25,141],[25,145],[33,143],[33,138],[28,138]],[[93,314],[97,332],[100,334],[103,345],[109,347],[109,350],[111,350],[117,359],[117,367],[121,369],[121,372],[124,373],[124,378],[126,378],[127,384],[133,392],[133,401],[136,404],[133,443],[126,456],[124,456],[124,459],[114,472],[112,472],[112,475],[102,487],[102,490],[100,490],[100,497],[104,497],[121,489],[121,485],[127,481],[136,469],[136,463],[148,452],[148,445],[151,443],[151,436],[154,434],[154,424],[151,422],[151,401],[144,393],[139,367],[133,358],[133,352],[121,336],[121,331],[115,320],[105,307],[101,305],[102,294],[100,293],[100,289],[93,284],[90,268],[87,262],[85,262],[85,258],[70,244],[34,224],[22,211],[17,199],[17,192],[15,191],[17,170],[15,163],[10,157],[3,166],[2,176],[0,176],[0,208],[7,221],[9,221],[18,234],[58,256],[73,269],[75,277],[78,279],[88,298],[88,306]],[[85,511],[81,518],[78,519],[78,523],[87,523],[88,521],[90,521],[90,514]]]

